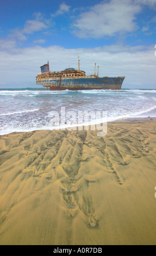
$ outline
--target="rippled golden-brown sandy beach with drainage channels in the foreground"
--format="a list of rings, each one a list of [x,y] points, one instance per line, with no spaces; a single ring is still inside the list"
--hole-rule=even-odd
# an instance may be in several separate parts
[[[155,245],[156,121],[0,137],[0,245]]]

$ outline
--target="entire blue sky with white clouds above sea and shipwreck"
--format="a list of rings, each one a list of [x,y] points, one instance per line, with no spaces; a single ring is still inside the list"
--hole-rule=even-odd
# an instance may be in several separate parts
[[[0,0],[0,88],[36,87],[68,66],[126,76],[123,88],[156,89],[156,0]]]

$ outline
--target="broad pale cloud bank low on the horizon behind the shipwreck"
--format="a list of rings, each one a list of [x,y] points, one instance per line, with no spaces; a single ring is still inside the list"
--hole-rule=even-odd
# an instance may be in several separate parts
[[[80,69],[86,71],[88,75],[93,74],[94,64],[97,63],[100,76],[126,76],[123,88],[155,88],[154,52],[154,45],[150,47],[111,45],[88,49],[35,46],[16,48],[13,52],[3,50],[0,51],[0,87],[34,87],[40,66],[47,60],[51,71],[64,70],[68,65],[78,68],[79,54]]]

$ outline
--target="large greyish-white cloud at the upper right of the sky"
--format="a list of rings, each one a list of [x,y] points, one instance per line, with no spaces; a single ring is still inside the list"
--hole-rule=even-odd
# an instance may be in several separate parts
[[[133,32],[138,28],[135,15],[140,10],[140,5],[134,4],[132,0],[111,0],[96,4],[74,22],[74,34],[79,38],[102,38],[105,35]]]

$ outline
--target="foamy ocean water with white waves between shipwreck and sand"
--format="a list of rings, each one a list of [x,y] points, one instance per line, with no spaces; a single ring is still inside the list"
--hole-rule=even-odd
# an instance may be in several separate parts
[[[64,123],[60,118],[65,110]],[[156,90],[78,90],[47,91],[46,89],[0,89],[0,135],[11,132],[63,129],[72,118],[83,112],[107,113],[107,121],[133,117],[156,116]],[[55,117],[54,117],[55,113]],[[68,113],[68,114],[67,114]],[[102,115],[102,114],[101,114]],[[52,121],[53,120],[53,121]],[[88,123],[89,121],[90,123]],[[83,120],[84,124],[99,119]]]

